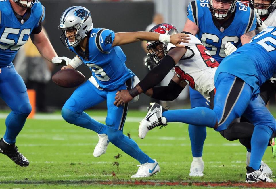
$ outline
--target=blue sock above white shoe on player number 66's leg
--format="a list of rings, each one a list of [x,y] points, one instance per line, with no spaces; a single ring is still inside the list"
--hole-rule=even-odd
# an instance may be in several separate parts
[[[206,135],[206,127],[189,125],[189,136],[193,157],[202,157]]]

